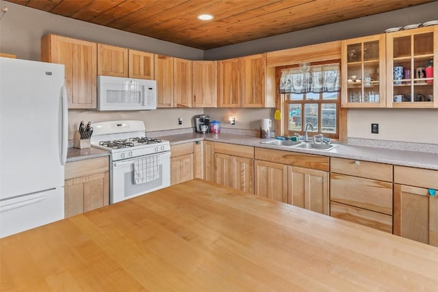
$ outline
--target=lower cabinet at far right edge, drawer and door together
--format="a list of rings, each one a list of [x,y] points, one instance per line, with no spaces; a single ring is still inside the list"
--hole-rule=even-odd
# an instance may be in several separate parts
[[[438,246],[438,171],[396,165],[394,182],[394,234]]]

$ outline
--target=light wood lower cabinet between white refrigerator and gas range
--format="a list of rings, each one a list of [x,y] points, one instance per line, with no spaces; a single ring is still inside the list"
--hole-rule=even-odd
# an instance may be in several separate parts
[[[66,163],[64,217],[71,217],[110,203],[108,157]]]

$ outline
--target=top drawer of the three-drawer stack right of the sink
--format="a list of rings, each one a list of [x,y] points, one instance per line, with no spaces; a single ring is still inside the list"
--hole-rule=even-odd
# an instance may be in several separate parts
[[[332,157],[330,171],[392,182],[392,165]]]

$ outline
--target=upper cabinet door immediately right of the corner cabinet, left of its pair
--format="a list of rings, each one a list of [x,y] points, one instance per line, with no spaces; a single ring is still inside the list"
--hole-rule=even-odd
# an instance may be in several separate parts
[[[242,77],[240,58],[218,61],[218,106],[240,107]]]

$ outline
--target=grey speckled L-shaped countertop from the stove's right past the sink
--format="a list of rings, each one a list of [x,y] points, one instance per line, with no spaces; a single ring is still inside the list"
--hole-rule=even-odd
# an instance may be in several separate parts
[[[195,142],[199,140],[207,140],[214,142],[224,142],[231,144],[240,144],[246,146],[255,146],[261,148],[270,148],[276,150],[286,150],[294,152],[303,152],[315,155],[324,155],[329,157],[340,157],[347,159],[357,159],[363,161],[373,161],[379,163],[388,163],[394,165],[411,166],[414,168],[427,168],[431,170],[438,170],[438,154],[416,152],[407,150],[394,150],[387,148],[350,146],[341,144],[333,150],[310,150],[300,149],[291,146],[275,146],[268,144],[261,144],[260,142],[267,141],[259,137],[242,136],[235,134],[198,134],[187,133],[179,135],[170,135],[160,137],[163,140],[170,141],[170,145],[183,144],[187,142]]]

